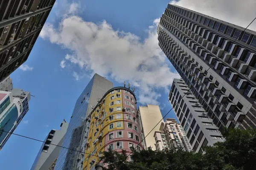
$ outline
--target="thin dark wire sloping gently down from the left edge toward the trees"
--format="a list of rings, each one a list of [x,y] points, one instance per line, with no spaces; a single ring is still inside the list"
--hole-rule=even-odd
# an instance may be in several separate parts
[[[34,140],[34,141],[46,143],[46,142],[44,142],[44,141],[42,141],[42,140],[35,139],[35,138],[31,138],[31,137],[28,137],[28,136],[19,135],[19,134],[17,134],[17,133],[11,133],[11,132],[7,132],[7,131],[5,131],[5,130],[0,130],[0,131],[6,132],[6,133],[10,133],[10,134],[14,134],[14,135],[16,135],[16,136],[20,136],[20,137],[23,137],[23,138],[31,139],[31,140]],[[52,143],[50,143],[50,144],[52,144]],[[76,151],[76,152],[84,153],[84,154],[87,154],[87,155],[90,155],[90,156],[96,156],[96,157],[99,157],[99,158],[100,158],[100,156],[93,155],[93,154],[86,153],[86,152],[82,152],[82,151],[79,151],[79,150],[74,150],[74,149],[71,149],[71,148],[68,148],[68,147],[63,147],[63,146],[58,145],[58,144],[52,144],[52,145],[58,146],[58,147],[62,147],[62,148],[64,148],[64,149],[68,149],[68,150],[73,150],[73,151]],[[125,148],[122,148],[122,149],[125,149]],[[106,159],[108,159],[108,158],[106,158]],[[108,160],[110,160],[110,161],[115,161],[115,162],[119,162],[119,161],[112,160],[112,159],[108,159]],[[134,164],[128,164],[128,163],[124,163],[124,162],[123,162],[123,164],[131,165],[131,166],[134,166],[134,167],[140,167],[140,166],[137,166],[137,165],[134,165]],[[151,169],[148,169],[148,168],[146,168],[146,167],[140,167],[140,168],[143,168],[143,169],[146,169],[146,170],[151,170]]]

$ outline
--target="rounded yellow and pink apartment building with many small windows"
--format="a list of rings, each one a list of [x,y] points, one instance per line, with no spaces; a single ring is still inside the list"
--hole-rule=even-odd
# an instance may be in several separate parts
[[[129,88],[116,87],[110,89],[100,99],[90,117],[90,133],[86,144],[83,170],[93,170],[99,162],[98,156],[108,148],[131,153],[131,147],[138,151],[143,149],[140,144],[141,130],[137,114],[136,97]]]

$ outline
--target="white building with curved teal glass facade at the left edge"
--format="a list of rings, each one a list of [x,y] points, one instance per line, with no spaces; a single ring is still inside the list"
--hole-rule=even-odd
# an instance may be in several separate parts
[[[0,91],[0,149],[28,112],[29,100],[30,92],[22,89]]]

